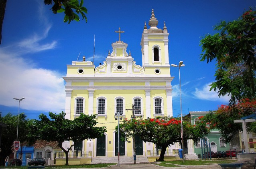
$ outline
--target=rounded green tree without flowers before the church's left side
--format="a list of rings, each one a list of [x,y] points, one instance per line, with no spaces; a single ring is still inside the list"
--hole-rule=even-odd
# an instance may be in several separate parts
[[[59,147],[66,155],[66,165],[69,165],[68,152],[74,146],[71,145],[69,149],[64,149],[62,143],[64,141],[73,141],[74,143],[83,141],[85,139],[95,139],[106,132],[106,127],[95,127],[98,123],[96,115],[80,114],[74,120],[65,119],[65,113],[59,114],[49,112],[49,119],[46,115],[39,115],[40,120],[36,120],[28,133],[30,142],[36,140],[57,141]]]

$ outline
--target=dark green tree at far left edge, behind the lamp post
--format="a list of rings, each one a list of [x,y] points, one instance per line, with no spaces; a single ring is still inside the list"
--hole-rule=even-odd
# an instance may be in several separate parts
[[[1,138],[0,166],[3,166],[6,157],[14,150],[13,143],[17,139],[18,116],[12,116],[12,114],[8,113],[6,116],[0,117],[0,121],[7,125],[2,131]],[[18,141],[20,141],[20,143],[26,142],[25,133],[30,130],[28,123],[31,123],[31,121],[32,120],[26,119],[24,113],[19,114]]]

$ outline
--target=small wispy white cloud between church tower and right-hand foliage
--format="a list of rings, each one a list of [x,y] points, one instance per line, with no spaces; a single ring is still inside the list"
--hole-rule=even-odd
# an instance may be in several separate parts
[[[208,100],[208,101],[222,101],[228,103],[230,100],[230,96],[220,97],[218,96],[217,92],[213,90],[210,91],[211,83],[205,84],[201,89],[195,88],[195,91],[192,93],[196,99],[200,100]]]

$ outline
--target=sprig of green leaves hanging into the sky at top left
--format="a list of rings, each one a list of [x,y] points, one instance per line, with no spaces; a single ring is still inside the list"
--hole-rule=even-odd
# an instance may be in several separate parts
[[[73,20],[80,21],[80,18],[77,14],[81,13],[83,19],[85,19],[85,22],[87,22],[87,18],[85,14],[87,14],[87,9],[83,6],[83,0],[80,1],[80,4],[78,0],[45,0],[45,4],[50,5],[54,2],[53,7],[51,10],[54,14],[57,14],[59,12],[64,12],[64,22],[70,23]],[[75,12],[77,14],[75,14]]]

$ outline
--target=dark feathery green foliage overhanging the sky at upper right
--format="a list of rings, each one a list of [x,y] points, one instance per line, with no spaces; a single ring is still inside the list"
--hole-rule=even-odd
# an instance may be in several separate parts
[[[244,12],[238,20],[221,21],[214,35],[201,41],[201,61],[217,61],[215,82],[210,90],[219,97],[231,95],[230,106],[243,98],[254,98],[256,93],[256,11]]]

